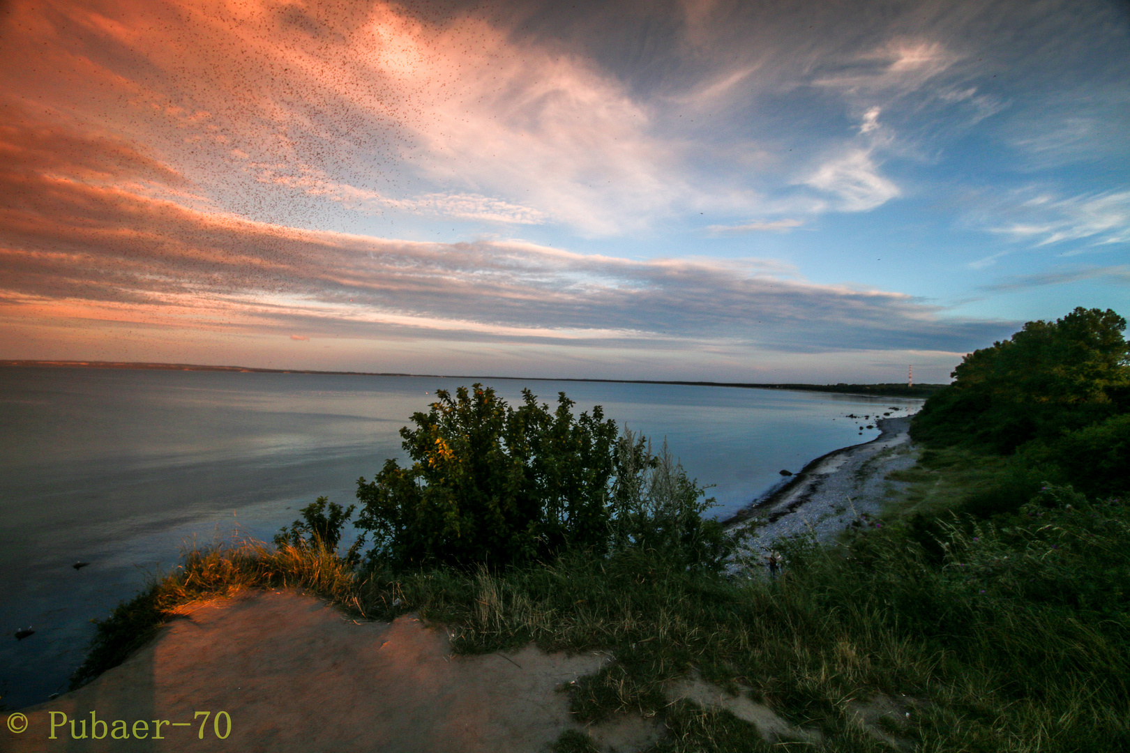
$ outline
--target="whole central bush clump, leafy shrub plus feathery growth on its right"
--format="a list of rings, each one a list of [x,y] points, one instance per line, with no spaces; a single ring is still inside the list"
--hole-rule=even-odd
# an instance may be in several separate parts
[[[702,520],[712,500],[666,452],[619,437],[616,422],[556,410],[529,389],[514,409],[480,384],[437,391],[428,413],[401,429],[412,459],[358,480],[357,527],[373,536],[372,562],[395,568],[507,566],[568,550],[663,549],[688,564],[716,563],[721,528]]]

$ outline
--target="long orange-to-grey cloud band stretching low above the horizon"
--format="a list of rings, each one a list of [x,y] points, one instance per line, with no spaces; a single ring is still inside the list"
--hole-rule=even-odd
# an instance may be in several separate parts
[[[18,137],[18,133],[16,134]],[[18,143],[18,139],[14,139]],[[11,140],[9,140],[11,141]],[[114,145],[110,145],[114,150]],[[11,151],[17,151],[15,148]],[[106,170],[149,169],[125,154]],[[89,155],[75,170],[86,169]],[[253,222],[76,180],[29,155],[0,172],[12,310],[376,336],[705,341],[784,351],[959,350],[1002,330],[906,295],[779,277],[774,263],[628,260],[516,240],[412,243]]]

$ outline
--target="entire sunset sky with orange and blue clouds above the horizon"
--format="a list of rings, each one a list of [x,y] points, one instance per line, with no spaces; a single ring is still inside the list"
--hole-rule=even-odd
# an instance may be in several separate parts
[[[0,358],[946,382],[1128,303],[1125,2],[0,1]]]

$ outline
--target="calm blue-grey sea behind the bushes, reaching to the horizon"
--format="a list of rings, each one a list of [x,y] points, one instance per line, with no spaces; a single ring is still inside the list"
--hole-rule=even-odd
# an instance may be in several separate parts
[[[92,618],[148,573],[173,566],[193,536],[238,525],[269,539],[328,494],[401,461],[400,427],[437,388],[466,379],[220,371],[0,368],[0,704],[64,690]],[[516,403],[605,414],[657,441],[714,484],[727,516],[780,480],[777,471],[872,439],[846,413],[920,401],[725,387],[497,379]],[[902,413],[902,411],[899,411]],[[904,414],[904,413],[902,413]],[[89,567],[70,566],[82,560]],[[16,641],[18,628],[34,636]]]

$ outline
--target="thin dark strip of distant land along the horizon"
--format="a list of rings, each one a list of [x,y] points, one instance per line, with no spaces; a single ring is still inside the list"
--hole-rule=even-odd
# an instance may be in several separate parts
[[[611,384],[675,384],[692,387],[739,387],[745,389],[796,389],[800,392],[831,392],[872,397],[929,397],[944,384],[776,384],[747,382],[689,382],[678,379],[594,379],[579,377],[506,377],[490,375],[401,374],[395,371],[320,371],[315,369],[267,369],[251,366],[203,366],[199,364],[147,364],[130,361],[34,361],[0,360],[0,367],[55,367],[87,369],[153,369],[162,371],[234,371],[246,374],[322,374],[328,376],[409,376],[433,379],[514,379],[520,382],[601,382]]]

